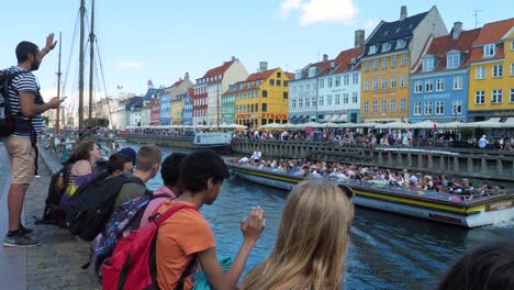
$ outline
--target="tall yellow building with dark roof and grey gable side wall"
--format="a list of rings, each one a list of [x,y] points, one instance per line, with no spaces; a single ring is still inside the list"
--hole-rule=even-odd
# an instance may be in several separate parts
[[[446,34],[436,7],[410,18],[402,7],[400,20],[380,22],[360,56],[361,122],[409,121],[410,74],[429,42]]]

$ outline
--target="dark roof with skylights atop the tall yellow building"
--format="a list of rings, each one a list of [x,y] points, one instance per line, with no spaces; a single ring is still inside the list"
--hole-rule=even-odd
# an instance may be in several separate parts
[[[428,12],[429,11],[426,11],[420,14],[412,15],[410,18],[405,18],[404,20],[398,20],[394,22],[381,21],[378,27],[370,35],[369,40],[366,42],[364,55],[368,55],[369,46],[387,42],[392,42],[391,48],[388,52],[394,51],[396,49],[396,42],[393,42],[395,40],[406,40],[407,43],[405,44],[405,47],[407,47],[409,41],[414,34],[414,30],[425,19]],[[382,47],[379,48],[380,49],[377,51],[377,54],[381,53]]]

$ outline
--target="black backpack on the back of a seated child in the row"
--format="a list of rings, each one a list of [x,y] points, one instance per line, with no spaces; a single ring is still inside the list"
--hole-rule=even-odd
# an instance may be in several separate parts
[[[85,241],[92,241],[105,227],[120,190],[128,182],[145,186],[139,178],[119,175],[92,183],[74,194],[66,212],[69,232]]]

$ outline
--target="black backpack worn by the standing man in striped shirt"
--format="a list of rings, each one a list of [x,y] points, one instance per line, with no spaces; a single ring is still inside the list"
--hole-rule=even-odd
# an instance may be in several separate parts
[[[9,104],[9,86],[16,76],[30,71],[21,70],[15,72],[0,71],[0,137],[11,135],[14,131],[34,131],[30,119],[22,119],[21,113],[14,115]]]

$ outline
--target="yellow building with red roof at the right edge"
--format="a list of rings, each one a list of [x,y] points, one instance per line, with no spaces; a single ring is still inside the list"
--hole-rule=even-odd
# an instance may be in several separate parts
[[[469,120],[514,116],[514,19],[485,24],[469,63]]]

